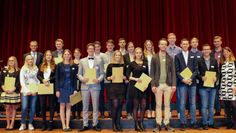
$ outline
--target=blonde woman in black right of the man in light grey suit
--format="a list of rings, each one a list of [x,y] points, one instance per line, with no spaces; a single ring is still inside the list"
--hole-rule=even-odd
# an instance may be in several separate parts
[[[112,73],[113,68],[122,68],[123,76],[120,77],[123,79],[120,83],[114,83],[116,75]],[[125,65],[122,53],[119,50],[116,50],[112,56],[112,62],[107,66],[106,79],[110,81],[110,88],[107,90],[107,96],[112,101],[112,128],[113,131],[122,131],[120,124],[120,117],[122,111],[122,100],[125,98]]]

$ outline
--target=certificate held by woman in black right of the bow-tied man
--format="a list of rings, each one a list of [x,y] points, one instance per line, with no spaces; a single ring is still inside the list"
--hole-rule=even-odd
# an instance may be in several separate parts
[[[115,79],[112,80],[112,83],[123,83],[123,67],[113,67],[112,75],[115,76]]]

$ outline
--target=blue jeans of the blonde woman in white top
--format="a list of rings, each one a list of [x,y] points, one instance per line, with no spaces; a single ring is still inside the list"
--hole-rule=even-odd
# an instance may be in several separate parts
[[[29,123],[32,124],[34,120],[37,96],[21,96],[21,124],[25,124],[28,105],[30,106]]]

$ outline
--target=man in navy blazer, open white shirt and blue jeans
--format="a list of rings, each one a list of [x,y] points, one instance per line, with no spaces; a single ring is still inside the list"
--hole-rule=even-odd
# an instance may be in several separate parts
[[[188,94],[189,104],[190,104],[190,116],[191,116],[191,127],[198,128],[196,124],[196,76],[198,72],[197,60],[194,57],[194,54],[190,52],[189,41],[187,39],[182,39],[181,44],[182,52],[175,56],[175,67],[176,67],[176,76],[178,87],[177,91],[179,93],[179,112],[180,112],[180,129],[182,131],[186,128],[186,115],[185,115],[185,106],[186,106],[186,94]],[[189,68],[192,72],[192,75],[189,75],[190,78],[182,77],[180,73],[184,69]]]

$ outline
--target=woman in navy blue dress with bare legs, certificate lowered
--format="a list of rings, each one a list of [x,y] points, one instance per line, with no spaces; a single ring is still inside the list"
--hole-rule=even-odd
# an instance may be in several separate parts
[[[60,103],[60,118],[63,131],[71,131],[70,115],[71,104],[70,96],[75,95],[77,76],[76,67],[72,60],[72,54],[69,49],[63,51],[63,62],[59,63],[56,68],[56,96]],[[66,110],[66,112],[65,112]],[[66,113],[66,116],[65,116]]]

